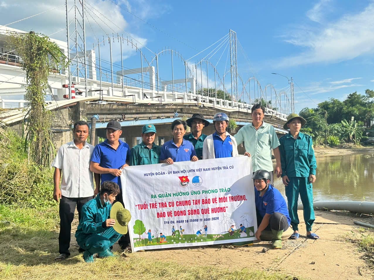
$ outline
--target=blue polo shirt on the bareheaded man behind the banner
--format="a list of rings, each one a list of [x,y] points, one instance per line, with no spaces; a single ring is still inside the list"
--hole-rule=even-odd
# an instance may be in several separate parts
[[[165,142],[161,147],[160,160],[170,157],[174,162],[189,161],[193,156],[196,156],[195,148],[190,141],[185,139],[179,147],[174,144],[174,139]]]

